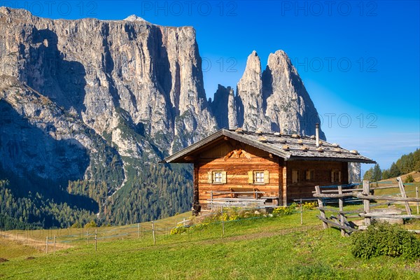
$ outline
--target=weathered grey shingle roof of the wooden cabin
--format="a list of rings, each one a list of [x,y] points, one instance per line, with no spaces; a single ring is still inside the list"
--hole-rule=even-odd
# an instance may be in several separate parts
[[[211,142],[222,137],[229,137],[244,144],[260,148],[263,151],[278,155],[285,160],[333,160],[343,162],[376,163],[370,158],[360,155],[357,151],[349,151],[337,144],[330,144],[320,140],[321,145],[316,147],[314,136],[300,136],[297,134],[285,135],[279,133],[258,133],[241,130],[219,130],[209,137],[184,148],[165,158],[162,162],[188,162],[184,157],[197,151],[197,149],[211,144]]]

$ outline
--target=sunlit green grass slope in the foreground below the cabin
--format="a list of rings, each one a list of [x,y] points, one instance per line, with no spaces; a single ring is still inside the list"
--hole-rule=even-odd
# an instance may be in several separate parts
[[[420,262],[360,260],[321,230],[318,211],[195,228],[183,235],[79,244],[0,263],[1,279],[418,279]],[[3,247],[2,247],[3,248]],[[3,251],[3,250],[2,250]]]

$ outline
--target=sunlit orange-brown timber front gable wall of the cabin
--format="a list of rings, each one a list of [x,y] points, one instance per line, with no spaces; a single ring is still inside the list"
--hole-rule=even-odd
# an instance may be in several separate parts
[[[232,151],[236,151],[236,153],[232,153]],[[204,209],[207,200],[211,197],[211,190],[257,188],[259,191],[265,192],[263,196],[279,197],[280,195],[279,186],[282,183],[283,167],[279,167],[279,161],[283,162],[283,159],[276,156],[270,157],[269,153],[265,151],[260,151],[232,139],[225,140],[218,146],[200,153],[197,158],[199,159],[199,201]],[[268,170],[269,183],[265,185],[248,183],[248,172],[255,170]],[[209,183],[208,172],[212,171],[225,171],[227,175],[226,183]]]

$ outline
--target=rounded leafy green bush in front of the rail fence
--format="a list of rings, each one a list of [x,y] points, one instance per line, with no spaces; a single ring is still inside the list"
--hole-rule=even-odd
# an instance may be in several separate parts
[[[377,223],[363,232],[351,235],[351,253],[369,259],[379,255],[401,256],[409,260],[420,259],[420,240],[412,232],[398,225]]]

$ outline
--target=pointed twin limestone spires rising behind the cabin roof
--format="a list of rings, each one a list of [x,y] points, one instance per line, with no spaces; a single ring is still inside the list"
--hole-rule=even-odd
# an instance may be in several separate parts
[[[260,58],[253,51],[237,84],[235,102],[228,105],[232,110],[229,113],[222,106],[228,104],[228,100],[231,100],[228,99],[228,90],[219,85],[212,103],[219,127],[237,123],[248,131],[314,135],[315,124],[320,123],[314,103],[283,50],[269,55],[262,73]],[[320,138],[325,139],[322,131]]]

